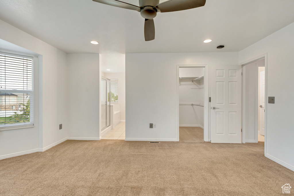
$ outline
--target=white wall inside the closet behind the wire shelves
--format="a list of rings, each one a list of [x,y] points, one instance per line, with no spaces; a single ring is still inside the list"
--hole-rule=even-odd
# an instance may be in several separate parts
[[[179,68],[179,77],[200,77],[204,68]],[[204,80],[191,82],[192,79],[181,79],[179,86],[179,124],[180,126],[204,127],[204,108],[196,105],[181,105],[181,103],[204,104]],[[200,89],[191,89],[200,88]]]

